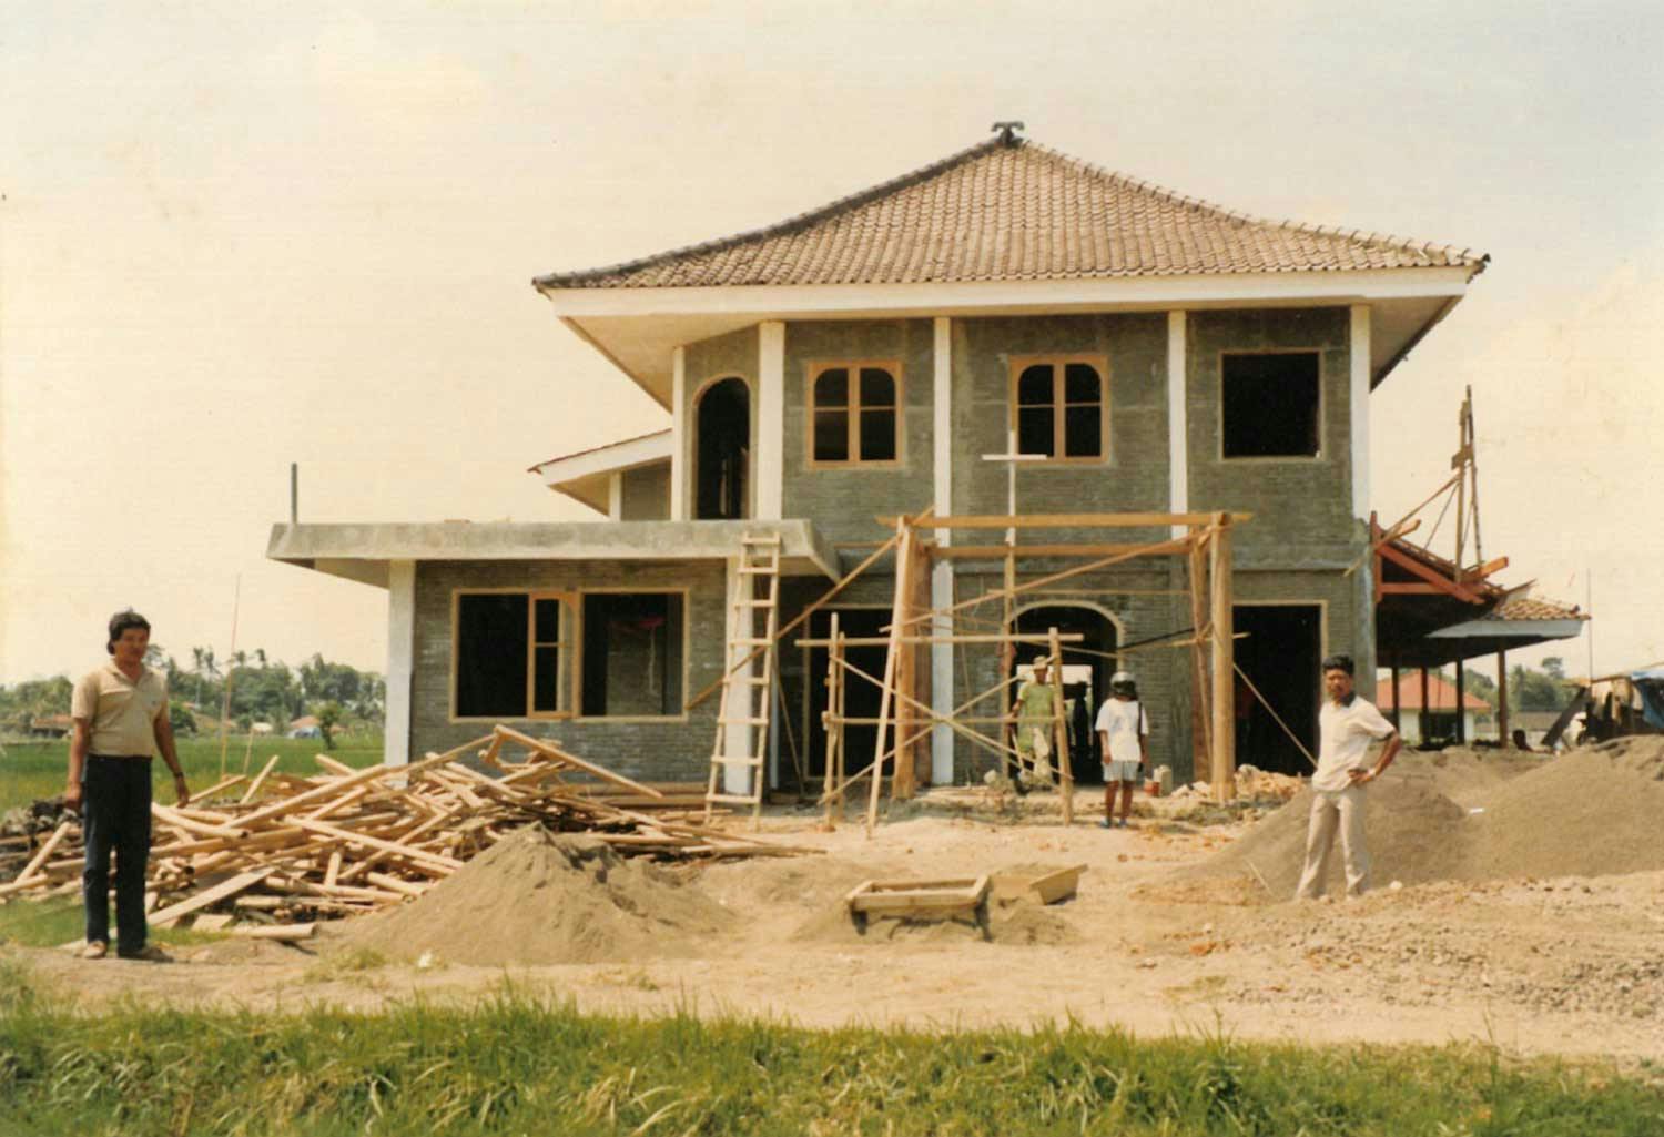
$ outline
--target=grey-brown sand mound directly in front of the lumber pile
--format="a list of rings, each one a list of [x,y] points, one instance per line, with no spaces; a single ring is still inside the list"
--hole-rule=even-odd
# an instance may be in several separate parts
[[[599,837],[529,826],[421,899],[358,921],[344,942],[401,959],[571,964],[672,956],[730,924],[716,901]]]

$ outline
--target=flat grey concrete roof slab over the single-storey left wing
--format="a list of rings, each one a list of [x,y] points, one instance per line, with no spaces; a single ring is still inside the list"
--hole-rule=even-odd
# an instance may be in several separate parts
[[[429,524],[275,524],[273,561],[388,586],[391,561],[722,561],[740,538],[780,534],[784,576],[837,579],[837,554],[814,523],[787,521],[443,521]]]

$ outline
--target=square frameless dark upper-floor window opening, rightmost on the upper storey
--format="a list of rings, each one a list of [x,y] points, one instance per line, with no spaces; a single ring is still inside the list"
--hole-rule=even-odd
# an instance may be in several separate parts
[[[1321,449],[1316,351],[1220,356],[1223,458],[1316,458]]]

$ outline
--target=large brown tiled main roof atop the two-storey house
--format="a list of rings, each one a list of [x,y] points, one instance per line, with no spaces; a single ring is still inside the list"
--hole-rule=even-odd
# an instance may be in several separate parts
[[[819,210],[539,288],[707,288],[1443,268],[1489,258],[1356,230],[1266,221],[1047,146],[962,150]]]

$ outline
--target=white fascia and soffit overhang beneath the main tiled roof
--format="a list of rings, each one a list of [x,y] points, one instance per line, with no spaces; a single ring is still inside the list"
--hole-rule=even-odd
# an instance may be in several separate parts
[[[1196,273],[940,285],[537,286],[577,336],[671,406],[671,351],[765,320],[1020,316],[1173,308],[1369,305],[1371,385],[1379,385],[1468,291],[1478,266]]]

